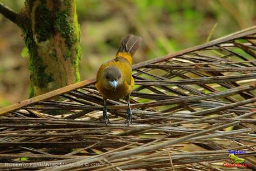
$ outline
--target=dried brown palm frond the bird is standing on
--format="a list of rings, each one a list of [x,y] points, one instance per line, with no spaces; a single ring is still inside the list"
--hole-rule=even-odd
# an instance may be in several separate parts
[[[94,79],[0,109],[0,169],[221,170],[228,150],[256,169],[256,27],[133,71],[129,127],[123,100],[102,123]]]

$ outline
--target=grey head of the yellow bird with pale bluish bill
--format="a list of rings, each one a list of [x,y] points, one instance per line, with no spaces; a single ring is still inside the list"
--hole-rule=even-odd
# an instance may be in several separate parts
[[[107,89],[117,89],[122,82],[122,73],[116,66],[109,66],[103,71],[103,86]]]

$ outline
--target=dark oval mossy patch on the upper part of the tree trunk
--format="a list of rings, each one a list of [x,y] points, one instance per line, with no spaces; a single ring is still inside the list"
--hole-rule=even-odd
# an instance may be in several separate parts
[[[35,11],[35,32],[39,42],[46,41],[54,34],[54,22],[51,11],[46,7],[46,3],[42,2],[36,7]]]

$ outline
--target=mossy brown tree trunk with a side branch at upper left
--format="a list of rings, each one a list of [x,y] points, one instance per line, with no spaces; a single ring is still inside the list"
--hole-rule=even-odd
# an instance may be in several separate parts
[[[26,0],[21,12],[9,19],[20,26],[30,54],[30,97],[80,80],[75,0]]]

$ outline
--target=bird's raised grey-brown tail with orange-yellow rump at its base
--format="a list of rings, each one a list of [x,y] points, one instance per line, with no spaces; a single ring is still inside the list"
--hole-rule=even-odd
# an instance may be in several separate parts
[[[134,35],[127,35],[121,40],[120,47],[117,51],[116,57],[124,57],[132,65],[132,56],[141,45],[142,38]]]

